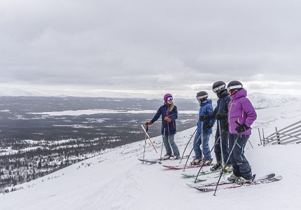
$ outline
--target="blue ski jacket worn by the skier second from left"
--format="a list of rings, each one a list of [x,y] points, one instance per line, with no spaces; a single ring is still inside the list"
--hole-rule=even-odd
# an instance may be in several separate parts
[[[206,101],[203,102],[203,104],[200,104],[199,121],[197,122],[197,132],[199,133],[202,132],[203,124],[214,125],[216,119],[205,120],[203,122],[200,120],[200,116],[211,116],[213,112],[214,112],[214,108],[212,107],[211,99],[207,99]],[[204,129],[203,134],[212,134],[212,128]]]

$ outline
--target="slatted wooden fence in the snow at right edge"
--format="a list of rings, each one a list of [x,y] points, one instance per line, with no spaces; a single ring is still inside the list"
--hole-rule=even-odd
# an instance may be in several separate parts
[[[290,143],[301,143],[301,120],[297,123],[293,123],[292,125],[288,125],[287,127],[282,128],[281,130],[277,130],[276,132],[270,134],[268,137],[265,137],[265,133],[262,129],[262,138],[260,135],[260,130],[258,128],[260,144],[263,146],[266,144],[290,144]]]

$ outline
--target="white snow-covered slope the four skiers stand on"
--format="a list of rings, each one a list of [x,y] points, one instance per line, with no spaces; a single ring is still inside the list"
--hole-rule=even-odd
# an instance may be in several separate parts
[[[160,164],[146,165],[137,160],[144,154],[145,141],[141,139],[24,183],[24,189],[0,195],[0,209],[301,209],[301,144],[258,146],[258,128],[260,132],[263,128],[267,136],[275,127],[281,129],[301,119],[301,100],[288,100],[282,106],[260,109],[257,113],[250,137],[253,148],[247,144],[246,158],[253,174],[259,177],[274,173],[283,176],[281,181],[218,190],[216,196],[202,193],[186,185],[194,180],[183,178],[183,170],[165,169]],[[159,127],[160,123],[154,123],[149,129]],[[175,141],[181,153],[195,129],[176,134]],[[216,126],[214,133],[215,129]],[[162,137],[152,140],[158,154],[147,140],[146,159],[160,158]],[[211,146],[213,142],[214,134],[211,135]],[[191,148],[190,141],[186,154]],[[212,155],[215,157],[214,152]],[[182,160],[181,165],[185,162]],[[162,163],[179,165],[179,160]],[[186,169],[186,173],[196,174],[198,170]],[[217,180],[211,178],[203,183]]]

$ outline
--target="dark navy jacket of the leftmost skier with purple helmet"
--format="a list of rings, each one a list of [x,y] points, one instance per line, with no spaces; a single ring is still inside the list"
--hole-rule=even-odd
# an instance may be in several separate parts
[[[157,113],[151,120],[151,123],[155,123],[155,121],[162,116],[161,134],[163,134],[165,130],[165,135],[176,134],[176,119],[178,118],[178,109],[176,109],[176,106],[174,106],[172,111],[169,111],[168,107],[168,104],[160,106]],[[168,123],[166,120],[164,120],[165,116],[171,118],[172,122]]]

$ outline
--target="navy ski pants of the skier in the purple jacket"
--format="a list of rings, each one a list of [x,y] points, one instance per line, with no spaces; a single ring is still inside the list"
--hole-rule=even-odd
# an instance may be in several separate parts
[[[233,167],[233,174],[235,174],[235,176],[242,176],[244,177],[244,179],[252,178],[251,166],[248,164],[248,160],[246,160],[246,157],[244,157],[244,148],[246,146],[246,142],[248,141],[248,137],[248,135],[229,134],[230,149],[232,149],[233,144],[237,139],[237,142],[234,145],[233,151],[230,155]]]

